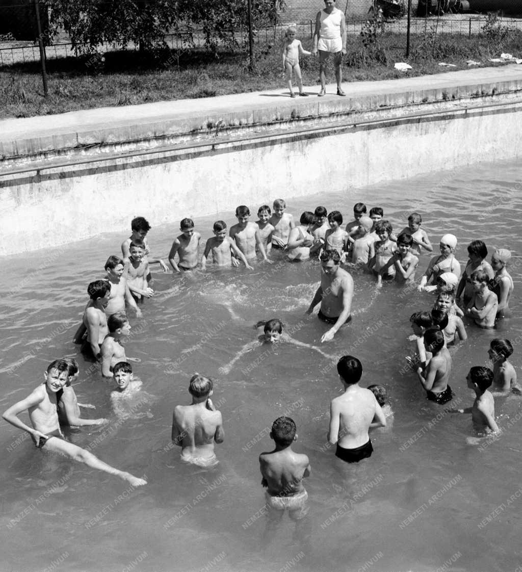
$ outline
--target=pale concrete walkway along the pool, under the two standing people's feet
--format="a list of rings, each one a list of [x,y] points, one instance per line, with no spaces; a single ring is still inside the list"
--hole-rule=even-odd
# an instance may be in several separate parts
[[[335,84],[325,97],[319,86],[306,86],[310,97],[289,97],[281,88],[196,100],[162,101],[115,108],[88,109],[51,116],[0,121],[0,176],[9,159],[93,145],[138,142],[161,137],[193,138],[234,127],[259,126],[369,112],[404,105],[433,104],[522,92],[522,66],[506,64],[397,80],[345,82],[346,97]],[[54,153],[53,153],[54,154]]]

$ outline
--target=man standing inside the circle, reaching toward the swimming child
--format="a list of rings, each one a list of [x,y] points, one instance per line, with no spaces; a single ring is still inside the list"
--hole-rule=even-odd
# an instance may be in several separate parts
[[[321,284],[317,288],[310,307],[306,311],[311,314],[321,302],[318,318],[327,324],[333,324],[324,333],[321,341],[330,341],[342,324],[352,320],[353,279],[341,268],[341,256],[336,250],[321,253]]]

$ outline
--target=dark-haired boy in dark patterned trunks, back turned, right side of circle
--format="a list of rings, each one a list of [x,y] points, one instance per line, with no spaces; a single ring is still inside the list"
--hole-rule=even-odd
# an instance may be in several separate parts
[[[443,405],[453,399],[453,392],[448,385],[452,360],[444,345],[444,334],[439,329],[428,329],[424,332],[424,348],[431,352],[432,357],[425,369],[417,368],[417,376],[427,399]]]

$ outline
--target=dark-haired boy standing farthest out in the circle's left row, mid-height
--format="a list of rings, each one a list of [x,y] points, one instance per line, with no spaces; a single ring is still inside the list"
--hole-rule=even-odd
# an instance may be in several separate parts
[[[87,329],[87,341],[82,353],[87,358],[98,359],[100,346],[109,333],[105,308],[109,304],[110,284],[107,280],[96,280],[87,286],[90,301],[83,312],[83,325]]]

